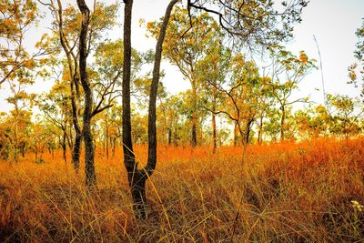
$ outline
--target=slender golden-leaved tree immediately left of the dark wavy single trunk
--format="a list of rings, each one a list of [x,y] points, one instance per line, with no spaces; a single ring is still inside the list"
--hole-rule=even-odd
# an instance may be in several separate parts
[[[40,1],[41,2],[41,1]],[[82,23],[82,15],[76,11],[73,5],[68,5],[66,9],[63,8],[60,0],[51,0],[49,3],[43,3],[48,6],[52,15],[54,16],[54,23],[52,25],[52,35],[45,34],[42,37],[42,42],[38,46],[54,46],[56,51],[53,56],[49,56],[45,63],[54,66],[59,59],[61,48],[66,55],[66,66],[68,71],[65,72],[69,75],[69,85],[71,87],[71,106],[73,125],[76,133],[74,147],[72,151],[72,161],[76,171],[79,168],[79,157],[82,142],[82,130],[80,125],[81,113],[81,88],[80,83],[80,46],[78,45],[78,38],[80,34],[80,24]],[[87,21],[86,33],[86,56],[93,51],[93,46],[96,42],[101,41],[102,33],[104,33],[110,26],[116,23],[117,5],[105,5],[95,3],[93,12],[89,13]],[[59,46],[60,44],[60,46]],[[98,103],[100,104],[100,103]],[[98,105],[96,105],[98,106]]]

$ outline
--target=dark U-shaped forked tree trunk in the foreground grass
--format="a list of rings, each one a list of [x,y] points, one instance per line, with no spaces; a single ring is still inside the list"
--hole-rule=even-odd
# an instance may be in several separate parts
[[[123,150],[124,164],[127,171],[127,180],[133,198],[134,213],[137,218],[146,218],[146,181],[157,165],[157,129],[156,129],[156,103],[157,87],[160,75],[160,62],[162,58],[162,45],[166,35],[169,16],[177,0],[172,0],[167,6],[166,15],[161,25],[157,40],[156,56],[153,68],[153,79],[150,88],[148,109],[148,158],[147,166],[138,169],[136,157],[133,152],[130,117],[130,71],[131,71],[131,17],[133,0],[125,0],[124,12],[124,66],[123,66]]]

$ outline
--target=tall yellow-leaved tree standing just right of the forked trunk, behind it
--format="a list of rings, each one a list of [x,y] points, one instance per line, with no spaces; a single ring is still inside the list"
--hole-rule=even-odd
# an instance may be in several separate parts
[[[203,27],[193,28],[186,35],[182,35],[190,25],[190,21],[193,25]],[[157,22],[147,24],[148,31],[156,38],[159,34],[159,25]],[[193,147],[197,146],[197,96],[201,89],[201,83],[198,82],[197,63],[206,56],[207,49],[211,48],[214,44],[213,39],[216,38],[222,37],[212,17],[204,14],[189,19],[186,9],[175,8],[167,28],[163,54],[178,67],[192,87],[191,145]]]

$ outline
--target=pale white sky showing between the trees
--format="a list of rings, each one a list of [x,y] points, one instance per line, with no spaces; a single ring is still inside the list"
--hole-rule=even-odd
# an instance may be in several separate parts
[[[75,1],[67,0],[66,2],[74,3]],[[86,2],[91,5],[93,1]],[[139,19],[143,18],[146,22],[159,19],[164,15],[168,2],[167,0],[134,1],[132,22],[132,46],[134,48],[139,51],[155,48],[156,41],[147,38],[145,28],[139,26]],[[122,23],[122,12],[123,5],[120,9],[119,23]],[[364,18],[364,0],[310,0],[303,11],[302,22],[295,26],[294,39],[286,44],[288,50],[294,54],[298,55],[300,50],[304,50],[309,58],[319,61],[318,46],[313,38],[314,35],[316,36],[322,57],[327,93],[348,96],[358,96],[359,94],[359,89],[347,85],[347,81],[349,80],[348,66],[355,62],[353,51],[358,41],[355,31],[361,25],[362,18]],[[34,46],[41,36],[40,33],[44,31],[49,22],[50,17],[45,17],[38,28],[27,35],[28,46]],[[121,26],[109,34],[112,39],[121,38],[122,35]],[[163,62],[161,67],[166,72],[163,83],[170,93],[177,94],[190,88],[189,83],[179,73],[177,66]],[[52,85],[53,81],[36,80],[35,85],[30,86],[27,90],[40,94],[49,90]],[[12,108],[5,101],[5,98],[9,96],[9,91],[5,85],[1,88],[0,111],[8,111]],[[315,103],[323,103],[320,70],[314,70],[305,77],[295,96],[310,96]]]

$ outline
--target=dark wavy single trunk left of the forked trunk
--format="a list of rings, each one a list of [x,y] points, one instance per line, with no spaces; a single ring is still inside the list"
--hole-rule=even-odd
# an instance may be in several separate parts
[[[77,0],[77,5],[82,13],[81,32],[79,36],[79,72],[81,84],[85,93],[85,109],[84,109],[84,126],[83,126],[83,137],[85,144],[85,169],[86,169],[86,185],[93,186],[96,183],[95,174],[95,151],[94,142],[92,139],[91,132],[91,118],[92,118],[92,106],[93,97],[92,89],[87,78],[86,72],[86,59],[87,59],[87,46],[86,38],[88,32],[88,22],[90,17],[90,10],[88,9],[85,0]]]

